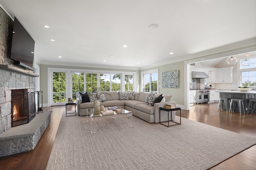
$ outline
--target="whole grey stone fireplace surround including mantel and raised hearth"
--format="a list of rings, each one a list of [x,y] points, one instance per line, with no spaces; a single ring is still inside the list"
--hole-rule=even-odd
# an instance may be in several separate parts
[[[40,122],[35,117],[30,123],[11,127],[11,90],[34,91],[35,77],[38,76],[31,70],[14,65],[14,61],[10,59],[13,23],[12,18],[0,8],[0,156],[33,150],[51,119],[51,112],[40,113],[36,114],[36,117],[42,118]],[[38,127],[32,127],[32,124]],[[21,128],[33,129],[33,132],[11,134],[13,129]]]

